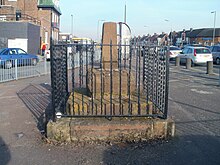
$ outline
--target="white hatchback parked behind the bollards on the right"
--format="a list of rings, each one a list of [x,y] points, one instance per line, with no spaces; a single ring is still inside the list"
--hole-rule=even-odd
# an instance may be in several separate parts
[[[181,63],[186,63],[186,59],[190,58],[192,65],[204,64],[207,61],[213,61],[211,51],[206,47],[187,46],[178,54]]]

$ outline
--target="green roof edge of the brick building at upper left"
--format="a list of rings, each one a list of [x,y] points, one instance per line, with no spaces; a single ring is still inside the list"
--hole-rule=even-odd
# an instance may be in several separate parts
[[[58,12],[61,15],[62,13],[58,3],[59,0],[39,0],[38,8],[53,8],[56,12]]]

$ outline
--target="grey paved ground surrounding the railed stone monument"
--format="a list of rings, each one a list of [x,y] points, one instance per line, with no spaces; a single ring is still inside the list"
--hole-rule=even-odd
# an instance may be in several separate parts
[[[202,71],[203,70],[203,71]],[[216,70],[217,73],[218,70]],[[50,79],[0,84],[0,164],[220,164],[218,75],[171,64],[169,116],[176,137],[140,144],[51,145],[40,124],[50,109]]]

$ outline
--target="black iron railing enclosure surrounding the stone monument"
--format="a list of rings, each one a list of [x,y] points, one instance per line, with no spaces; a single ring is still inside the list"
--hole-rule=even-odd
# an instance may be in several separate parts
[[[161,49],[138,43],[52,45],[54,119],[167,118],[169,50]]]

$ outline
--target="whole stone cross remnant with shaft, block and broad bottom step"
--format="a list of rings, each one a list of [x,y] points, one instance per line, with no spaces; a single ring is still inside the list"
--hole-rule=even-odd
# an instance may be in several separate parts
[[[88,94],[74,92],[67,104],[71,115],[138,115],[152,113],[152,104],[146,103],[144,95],[137,95],[135,77],[128,67],[122,67],[123,60],[118,60],[120,47],[117,45],[116,23],[103,25],[102,68],[89,68]],[[129,61],[129,59],[127,59]],[[143,92],[143,90],[141,90]],[[74,96],[74,102],[72,98]],[[72,98],[71,98],[72,97]],[[139,99],[138,99],[139,98]],[[92,106],[92,107],[91,107]],[[152,107],[152,106],[151,106]]]

